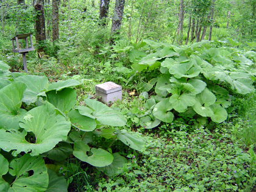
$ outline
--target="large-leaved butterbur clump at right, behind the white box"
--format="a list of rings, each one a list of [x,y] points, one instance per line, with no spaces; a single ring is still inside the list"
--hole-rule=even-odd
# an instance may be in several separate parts
[[[210,121],[222,123],[227,119],[233,94],[255,91],[252,51],[214,48],[210,41],[179,48],[151,40],[130,43],[124,50],[137,73],[160,72],[144,82],[146,91],[154,88],[158,98],[146,121],[148,125],[155,121],[171,123],[179,117],[196,119],[196,127]]]

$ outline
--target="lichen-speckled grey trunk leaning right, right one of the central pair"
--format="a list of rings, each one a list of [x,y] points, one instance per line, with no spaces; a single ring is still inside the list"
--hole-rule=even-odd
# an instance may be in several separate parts
[[[124,13],[124,4],[125,4],[125,0],[116,0],[115,11],[112,18],[112,27],[111,27],[112,35],[119,34],[119,30],[121,29],[123,13]],[[113,44],[112,38],[110,41]]]

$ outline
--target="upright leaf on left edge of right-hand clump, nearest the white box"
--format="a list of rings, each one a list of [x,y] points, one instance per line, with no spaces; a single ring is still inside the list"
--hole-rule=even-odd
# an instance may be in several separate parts
[[[160,94],[161,96],[166,96],[168,94],[167,89],[170,88],[171,82],[169,74],[163,74],[155,85],[155,93]]]

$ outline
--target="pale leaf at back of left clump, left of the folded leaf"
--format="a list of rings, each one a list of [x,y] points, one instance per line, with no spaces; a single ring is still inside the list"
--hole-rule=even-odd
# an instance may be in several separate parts
[[[27,105],[36,102],[38,94],[48,84],[48,79],[45,76],[20,76],[14,80],[15,82],[20,81],[26,84],[27,89],[24,93],[23,102],[26,102]]]

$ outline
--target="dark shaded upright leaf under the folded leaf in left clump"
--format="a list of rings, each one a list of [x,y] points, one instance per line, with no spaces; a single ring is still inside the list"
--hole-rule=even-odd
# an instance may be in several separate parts
[[[49,91],[46,93],[47,100],[64,113],[68,113],[76,104],[76,91],[73,88],[64,88],[60,91]]]

